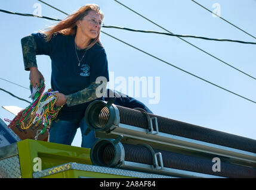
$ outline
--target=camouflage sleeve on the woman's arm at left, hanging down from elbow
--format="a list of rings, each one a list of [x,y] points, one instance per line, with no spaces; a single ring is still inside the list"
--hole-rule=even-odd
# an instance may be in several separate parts
[[[23,52],[24,68],[29,71],[29,68],[36,65],[36,42],[32,35],[21,39],[21,47]]]

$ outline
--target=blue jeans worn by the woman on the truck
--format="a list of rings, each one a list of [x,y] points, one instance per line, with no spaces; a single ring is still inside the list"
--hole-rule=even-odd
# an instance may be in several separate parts
[[[71,145],[79,127],[82,133],[81,147],[91,148],[97,138],[95,138],[94,131],[90,131],[89,134],[84,135],[85,130],[87,129],[85,118],[83,118],[81,121],[72,122],[55,119],[51,123],[49,141],[51,143]]]

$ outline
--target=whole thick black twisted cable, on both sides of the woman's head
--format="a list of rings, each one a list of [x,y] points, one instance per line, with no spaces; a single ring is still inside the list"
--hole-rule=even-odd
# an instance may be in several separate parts
[[[45,19],[48,19],[48,20],[61,21],[60,19],[57,19],[57,18],[44,17],[44,16],[39,17],[39,16],[36,16],[36,15],[33,15],[33,14],[24,14],[24,13],[20,13],[20,12],[11,12],[11,11],[3,10],[3,9],[0,9],[0,12],[5,12],[7,14],[16,14],[16,15],[21,15],[21,16],[26,16],[26,17],[38,17],[38,18],[45,18]],[[141,33],[163,34],[163,35],[166,35],[166,36],[192,37],[192,38],[203,39],[203,40],[214,40],[214,41],[218,41],[218,42],[236,42],[236,43],[245,43],[245,44],[256,45],[256,42],[245,42],[245,41],[241,41],[241,40],[214,39],[214,38],[209,38],[209,37],[192,36],[192,35],[181,35],[181,34],[171,34],[171,33],[159,32],[159,31],[152,31],[152,30],[135,30],[135,29],[128,29],[128,28],[119,27],[119,26],[101,26],[101,27],[104,27],[104,28],[107,28],[107,29],[121,29],[121,30],[135,31],[135,32],[141,32]]]

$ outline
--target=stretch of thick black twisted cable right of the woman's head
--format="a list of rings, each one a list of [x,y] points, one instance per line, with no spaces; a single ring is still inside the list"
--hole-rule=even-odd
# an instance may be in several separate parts
[[[128,29],[128,28],[119,27],[119,26],[102,26],[102,27],[107,28],[107,29],[121,29],[121,30],[136,31],[136,32],[142,32],[142,33],[164,34],[166,36],[192,37],[192,38],[203,39],[203,40],[214,40],[214,41],[220,41],[220,42],[236,42],[236,43],[246,43],[246,44],[256,45],[256,42],[245,42],[245,41],[240,41],[240,40],[214,39],[214,38],[209,38],[209,37],[181,35],[181,34],[171,34],[171,33],[165,33],[165,32],[159,32],[159,31],[151,31],[151,30],[135,30],[135,29]]]

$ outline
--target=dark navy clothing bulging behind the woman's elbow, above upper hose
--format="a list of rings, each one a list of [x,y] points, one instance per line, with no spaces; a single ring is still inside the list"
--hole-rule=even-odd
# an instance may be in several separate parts
[[[134,99],[133,97],[129,97],[126,94],[123,94],[116,90],[107,89],[107,96],[103,97],[103,100],[108,102],[111,97],[116,97],[114,105],[128,107],[131,109],[142,108],[147,113],[153,113],[146,105],[144,105],[144,103]]]

